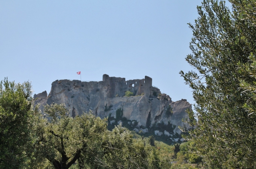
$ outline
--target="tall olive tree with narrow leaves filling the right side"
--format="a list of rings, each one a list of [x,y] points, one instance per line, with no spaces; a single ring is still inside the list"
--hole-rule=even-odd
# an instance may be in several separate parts
[[[180,74],[193,89],[189,152],[212,168],[256,167],[256,2],[203,0],[193,31],[195,71]],[[197,120],[196,120],[197,119]]]

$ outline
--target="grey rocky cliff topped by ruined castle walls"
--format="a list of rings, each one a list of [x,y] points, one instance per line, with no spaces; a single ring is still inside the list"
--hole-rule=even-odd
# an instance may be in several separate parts
[[[125,96],[126,91],[133,92],[134,96]],[[184,125],[182,119],[188,118],[185,110],[191,109],[187,100],[173,102],[169,95],[161,94],[148,76],[126,81],[106,74],[99,82],[56,80],[48,96],[46,91],[34,95],[34,104],[38,103],[42,113],[45,104],[65,103],[72,117],[92,110],[101,118],[122,116],[147,128],[170,122],[176,126],[174,133],[178,134],[181,133],[178,126]]]

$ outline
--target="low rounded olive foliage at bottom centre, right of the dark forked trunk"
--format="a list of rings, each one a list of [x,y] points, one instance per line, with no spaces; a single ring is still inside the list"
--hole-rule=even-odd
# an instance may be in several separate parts
[[[120,125],[106,132],[99,164],[105,168],[160,168],[161,161],[149,140],[134,139]]]

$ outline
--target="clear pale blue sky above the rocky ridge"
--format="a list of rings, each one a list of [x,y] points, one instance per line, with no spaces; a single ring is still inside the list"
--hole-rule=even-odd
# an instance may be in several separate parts
[[[173,101],[194,103],[180,70],[192,67],[192,31],[201,0],[0,1],[0,80],[31,81],[34,93],[55,80],[153,79]]]

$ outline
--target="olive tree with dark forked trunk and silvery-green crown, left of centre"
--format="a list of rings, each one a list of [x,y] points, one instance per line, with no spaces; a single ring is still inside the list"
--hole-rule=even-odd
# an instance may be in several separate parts
[[[106,119],[96,118],[92,112],[70,117],[65,104],[46,105],[44,112],[48,116],[39,117],[34,125],[37,138],[34,156],[47,159],[56,169],[68,169],[82,151],[97,147],[107,130]]]

